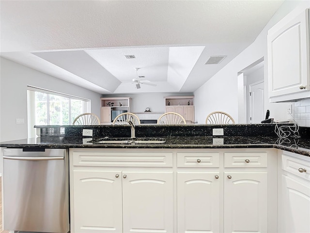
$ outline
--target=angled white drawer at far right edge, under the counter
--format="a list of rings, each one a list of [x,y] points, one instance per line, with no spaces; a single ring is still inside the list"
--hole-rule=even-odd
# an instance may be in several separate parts
[[[310,181],[310,162],[282,155],[282,169]]]

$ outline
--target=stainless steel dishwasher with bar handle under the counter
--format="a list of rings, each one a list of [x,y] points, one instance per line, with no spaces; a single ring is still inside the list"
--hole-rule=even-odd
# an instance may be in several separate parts
[[[66,149],[4,149],[4,230],[67,233],[68,174]]]

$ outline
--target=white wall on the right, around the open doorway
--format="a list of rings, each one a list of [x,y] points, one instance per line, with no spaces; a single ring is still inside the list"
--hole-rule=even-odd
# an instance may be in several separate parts
[[[197,106],[195,107],[195,118],[198,123],[203,123],[206,116],[214,111],[227,112],[238,123],[238,72],[262,57],[264,58],[264,111],[269,109],[270,117],[275,120],[283,120],[288,117],[286,110],[288,103],[269,103],[268,100],[267,32],[291,11],[301,12],[309,7],[310,1],[308,0],[284,1],[255,41],[194,92],[195,106]]]

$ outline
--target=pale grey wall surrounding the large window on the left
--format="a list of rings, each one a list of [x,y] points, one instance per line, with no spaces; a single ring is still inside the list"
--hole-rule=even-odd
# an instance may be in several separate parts
[[[89,99],[100,116],[100,94],[1,57],[0,141],[27,138],[27,85]],[[24,124],[16,124],[16,118]]]

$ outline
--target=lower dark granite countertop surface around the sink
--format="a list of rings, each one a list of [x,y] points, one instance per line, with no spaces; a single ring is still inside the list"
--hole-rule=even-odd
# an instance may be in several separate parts
[[[277,148],[310,156],[309,138],[275,136],[166,136],[161,144],[93,144],[88,137],[42,136],[1,142],[9,148],[143,148],[143,149],[220,149],[220,148]],[[213,145],[213,138],[223,138],[223,145]],[[95,138],[93,138],[95,139]]]

